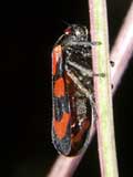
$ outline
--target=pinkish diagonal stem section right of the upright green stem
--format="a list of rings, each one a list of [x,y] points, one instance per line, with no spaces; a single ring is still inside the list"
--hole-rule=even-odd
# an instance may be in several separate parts
[[[115,65],[111,69],[111,81],[113,92],[116,90],[121,77],[127,67],[129,61],[133,54],[133,2],[129,9],[124,23],[119,32],[119,37],[113,45],[110,59]]]

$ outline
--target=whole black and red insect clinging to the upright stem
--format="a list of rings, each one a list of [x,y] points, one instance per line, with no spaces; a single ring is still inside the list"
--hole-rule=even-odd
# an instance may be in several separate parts
[[[72,24],[52,51],[52,143],[60,154],[84,152],[94,134],[91,48],[86,27]]]

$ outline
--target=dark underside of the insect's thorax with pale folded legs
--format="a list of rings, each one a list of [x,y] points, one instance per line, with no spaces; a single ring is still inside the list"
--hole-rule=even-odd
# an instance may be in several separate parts
[[[64,70],[80,92],[92,92],[92,61],[89,46],[72,45],[63,50]],[[86,91],[85,91],[86,90]]]

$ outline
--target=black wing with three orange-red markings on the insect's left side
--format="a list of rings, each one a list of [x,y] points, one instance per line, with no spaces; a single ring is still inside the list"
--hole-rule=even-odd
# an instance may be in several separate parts
[[[57,45],[52,52],[52,143],[59,153],[68,155],[71,149],[71,114],[65,93],[63,62],[62,46]]]

